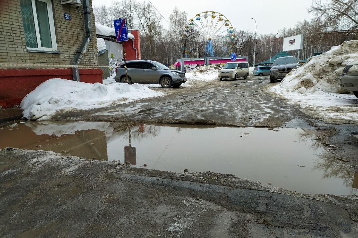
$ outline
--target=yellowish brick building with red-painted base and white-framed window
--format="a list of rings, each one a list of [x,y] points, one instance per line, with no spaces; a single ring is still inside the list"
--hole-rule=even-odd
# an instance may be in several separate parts
[[[102,83],[92,0],[0,0],[0,106],[56,77]]]

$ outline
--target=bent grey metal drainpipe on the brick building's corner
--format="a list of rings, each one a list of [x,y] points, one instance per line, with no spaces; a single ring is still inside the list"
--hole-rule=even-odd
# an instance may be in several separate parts
[[[72,65],[79,65],[81,63],[84,53],[86,53],[89,41],[92,38],[91,31],[91,11],[89,10],[89,0],[83,0],[83,15],[84,15],[84,29],[86,30],[86,36],[82,41],[81,47],[79,47],[76,56],[73,59]],[[72,68],[72,77],[74,81],[79,82],[79,70],[78,67]]]

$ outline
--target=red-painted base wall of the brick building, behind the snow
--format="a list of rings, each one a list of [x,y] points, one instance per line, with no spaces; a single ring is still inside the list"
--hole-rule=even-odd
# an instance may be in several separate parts
[[[0,106],[20,105],[29,92],[53,78],[72,80],[72,69],[0,69]],[[79,79],[102,83],[102,70],[79,69]]]

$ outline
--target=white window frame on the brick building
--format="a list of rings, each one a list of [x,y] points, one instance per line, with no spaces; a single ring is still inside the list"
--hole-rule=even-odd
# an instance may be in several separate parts
[[[39,24],[38,24],[38,19],[37,19],[37,11],[36,11],[35,1],[45,2],[47,5],[47,13],[48,13],[48,21],[49,21],[49,25],[50,25],[52,48],[41,46],[40,31],[39,31]],[[53,20],[53,11],[52,11],[52,1],[51,0],[31,0],[31,4],[32,4],[32,12],[33,12],[33,16],[34,16],[37,48],[27,47],[27,49],[34,50],[34,51],[57,51],[55,24],[54,24],[54,20]]]

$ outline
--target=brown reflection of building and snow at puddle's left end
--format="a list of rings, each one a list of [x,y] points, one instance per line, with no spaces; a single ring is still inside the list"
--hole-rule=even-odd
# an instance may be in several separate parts
[[[108,160],[106,129],[110,123],[26,122],[2,130],[0,148],[45,150],[66,156]],[[108,129],[110,131],[110,129]]]

